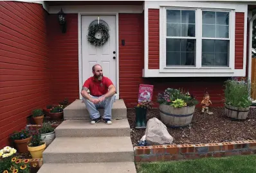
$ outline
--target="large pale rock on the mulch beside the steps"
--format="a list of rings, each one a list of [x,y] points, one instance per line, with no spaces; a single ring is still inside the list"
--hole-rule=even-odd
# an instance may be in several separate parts
[[[165,124],[155,117],[147,121],[145,135],[149,145],[172,144],[173,141]]]

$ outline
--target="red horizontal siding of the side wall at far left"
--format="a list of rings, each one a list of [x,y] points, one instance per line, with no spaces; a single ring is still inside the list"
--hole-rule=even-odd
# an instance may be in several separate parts
[[[41,4],[0,2],[0,148],[50,103],[47,14]]]

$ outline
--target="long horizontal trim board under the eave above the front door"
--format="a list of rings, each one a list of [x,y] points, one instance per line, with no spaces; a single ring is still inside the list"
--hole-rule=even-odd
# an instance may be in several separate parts
[[[142,13],[143,5],[78,5],[78,6],[50,6],[48,13],[56,14],[60,11],[64,13],[81,12],[115,12],[115,13]]]

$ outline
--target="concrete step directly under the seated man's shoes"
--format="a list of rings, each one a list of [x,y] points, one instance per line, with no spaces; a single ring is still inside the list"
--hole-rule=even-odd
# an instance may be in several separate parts
[[[127,119],[90,124],[90,120],[64,120],[56,129],[56,137],[96,137],[96,136],[130,136]]]

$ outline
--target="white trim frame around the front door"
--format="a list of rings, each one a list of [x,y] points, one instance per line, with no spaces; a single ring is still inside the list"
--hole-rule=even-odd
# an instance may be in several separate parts
[[[119,37],[118,37],[118,12],[79,12],[78,13],[78,70],[79,70],[79,99],[82,99],[82,95],[80,94],[82,90],[82,85],[84,81],[82,81],[82,15],[115,15],[116,16],[116,99],[119,99]]]

